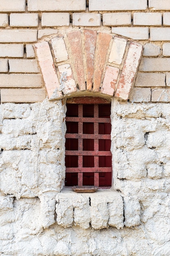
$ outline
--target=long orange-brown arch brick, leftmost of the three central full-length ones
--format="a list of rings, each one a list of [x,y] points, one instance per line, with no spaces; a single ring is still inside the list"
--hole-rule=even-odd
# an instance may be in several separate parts
[[[71,46],[71,52],[73,55],[73,66],[77,74],[76,80],[79,86],[79,90],[86,90],[84,63],[82,54],[82,38],[80,31],[74,31],[68,33],[68,40]]]

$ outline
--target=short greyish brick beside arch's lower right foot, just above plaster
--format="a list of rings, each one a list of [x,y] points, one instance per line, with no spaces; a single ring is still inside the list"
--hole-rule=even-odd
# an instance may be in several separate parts
[[[149,102],[151,97],[150,88],[133,88],[130,94],[131,102]]]

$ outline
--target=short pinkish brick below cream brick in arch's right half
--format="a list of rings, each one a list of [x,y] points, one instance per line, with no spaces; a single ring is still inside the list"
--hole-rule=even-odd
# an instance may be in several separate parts
[[[119,69],[117,67],[106,67],[106,73],[103,80],[101,92],[113,96]]]

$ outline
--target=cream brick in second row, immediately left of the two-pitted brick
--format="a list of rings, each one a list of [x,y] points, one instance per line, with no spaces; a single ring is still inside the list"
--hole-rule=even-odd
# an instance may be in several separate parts
[[[42,27],[61,27],[70,25],[69,13],[42,13]]]

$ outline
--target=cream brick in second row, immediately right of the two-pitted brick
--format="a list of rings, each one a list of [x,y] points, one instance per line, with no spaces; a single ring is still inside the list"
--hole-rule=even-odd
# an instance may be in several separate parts
[[[103,14],[104,26],[121,26],[131,25],[131,13],[104,13]]]

